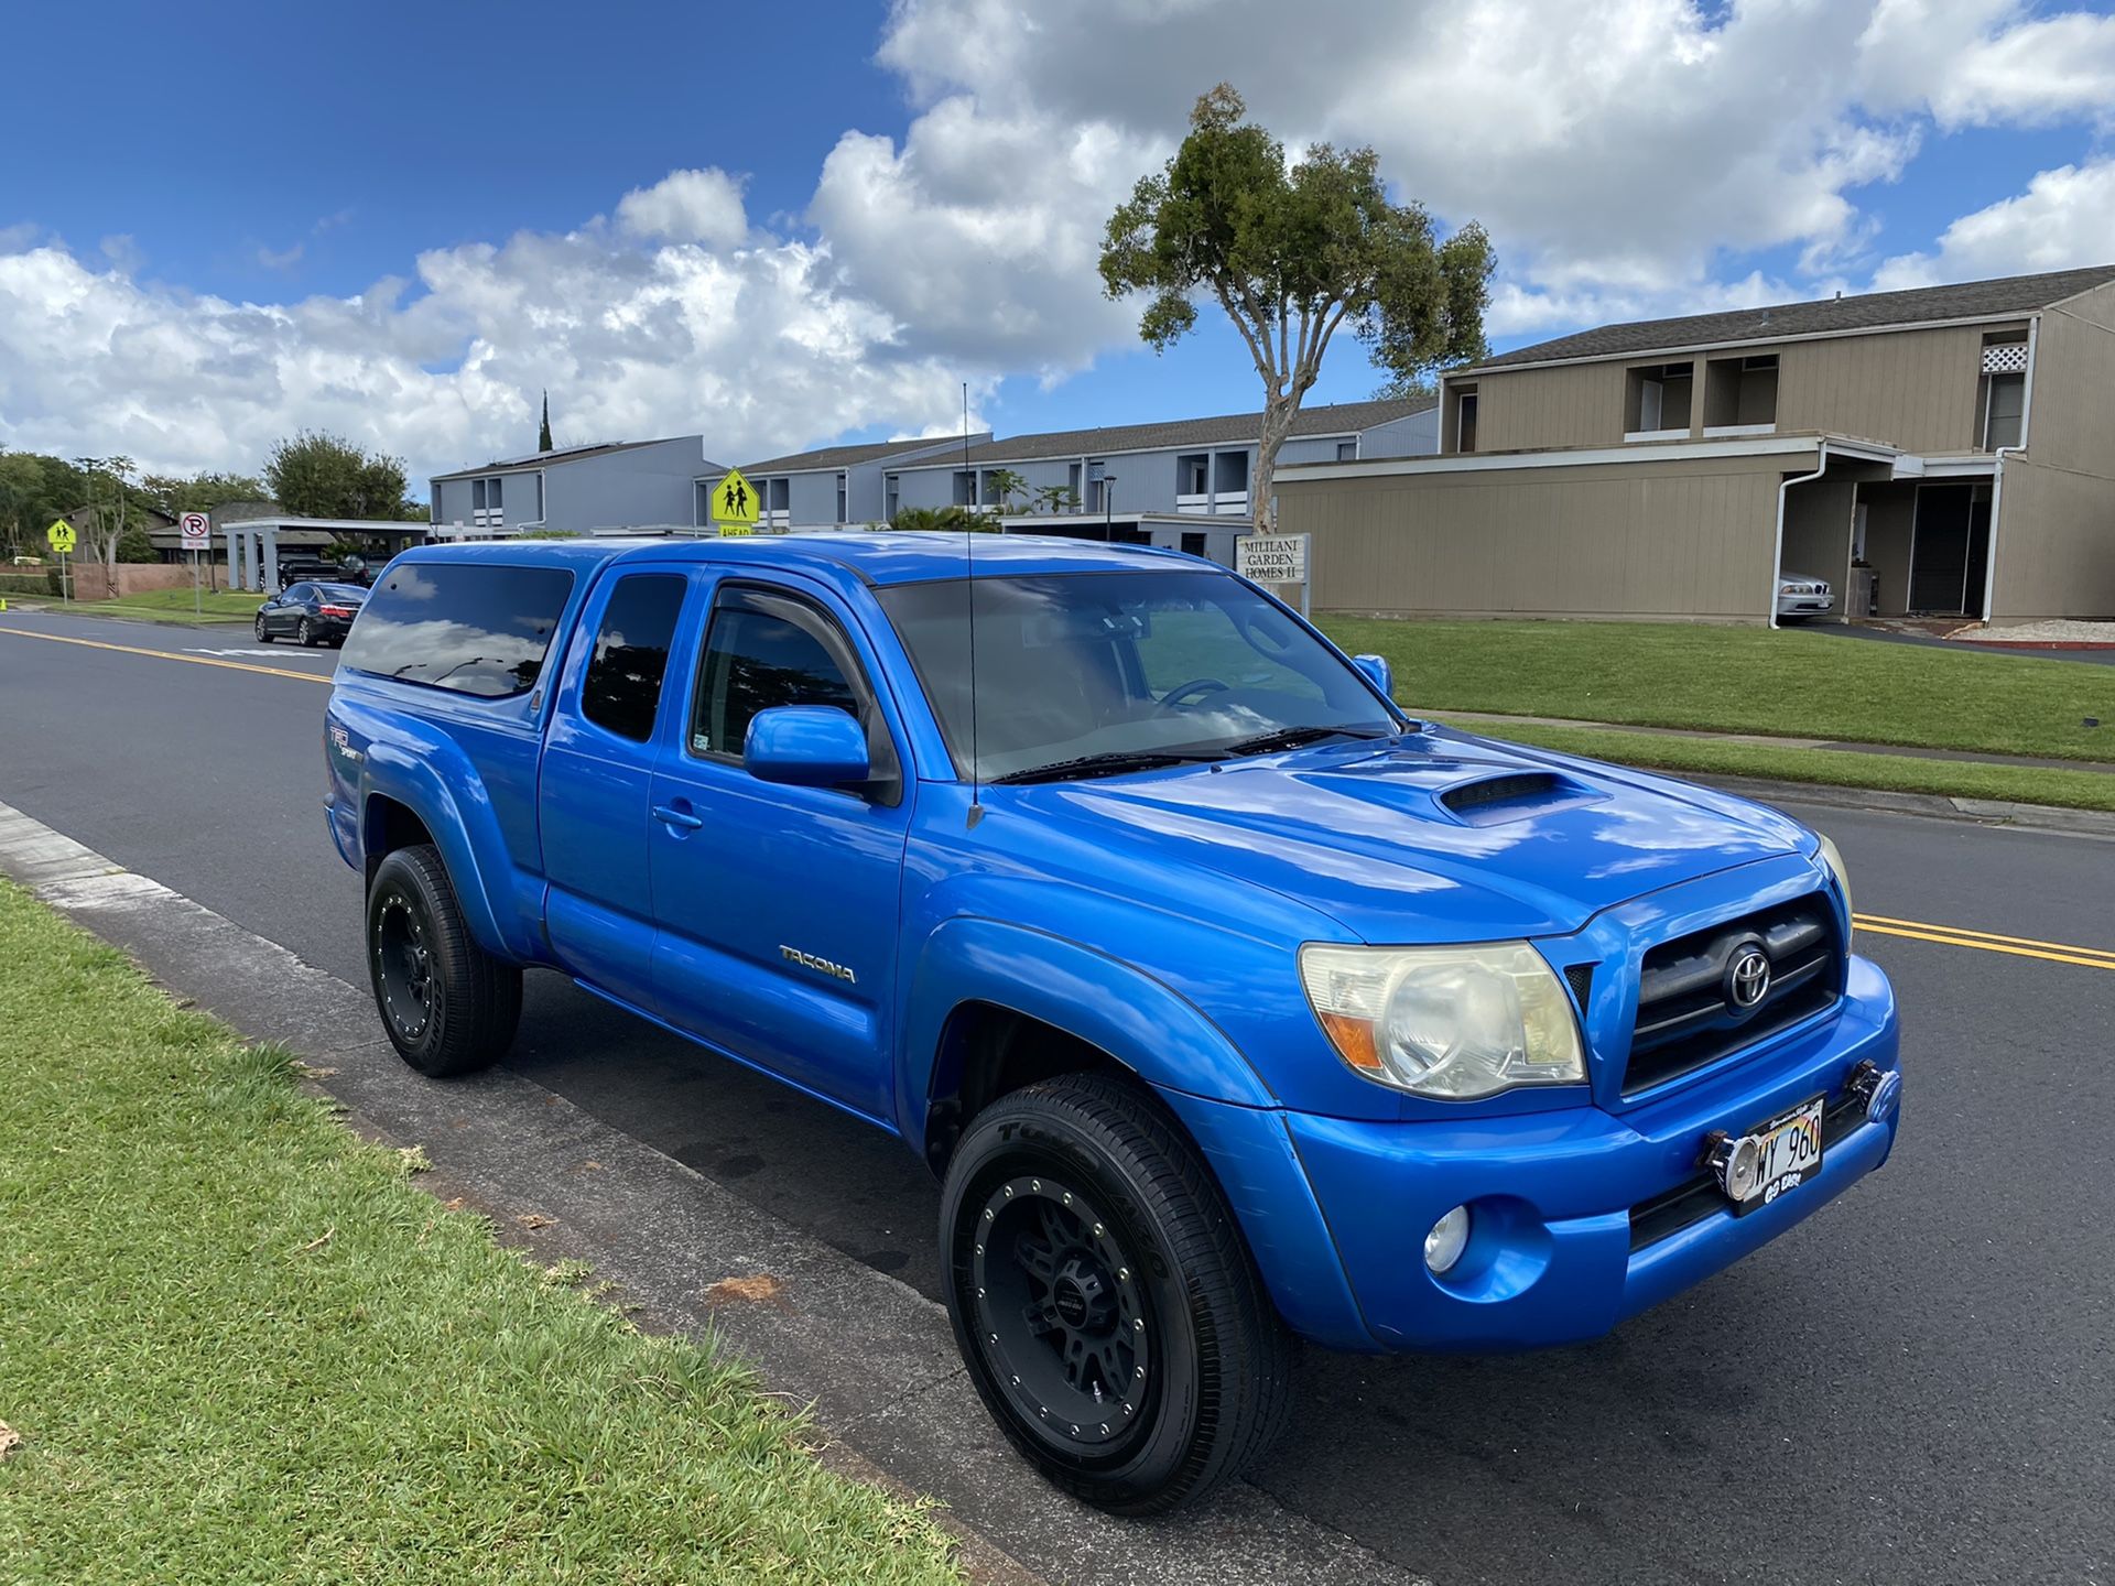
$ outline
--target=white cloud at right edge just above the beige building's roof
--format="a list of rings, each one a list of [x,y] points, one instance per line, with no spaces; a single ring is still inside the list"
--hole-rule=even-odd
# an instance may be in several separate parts
[[[1961,216],[1935,252],[1899,254],[1874,275],[1893,292],[1933,281],[2033,275],[2115,262],[2115,159],[2039,171],[2026,192]]]

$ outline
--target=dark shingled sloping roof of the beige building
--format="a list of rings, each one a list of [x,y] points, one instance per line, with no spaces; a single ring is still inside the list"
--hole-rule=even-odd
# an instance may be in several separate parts
[[[1853,298],[1821,298],[1819,302],[1774,302],[1764,309],[1692,313],[1679,319],[1635,319],[1624,326],[1597,326],[1574,336],[1540,340],[1533,347],[1514,347],[1510,353],[1483,359],[1476,368],[1624,357],[1662,347],[1789,340],[1844,330],[1895,330],[1948,319],[1999,319],[2047,309],[2052,302],[2075,298],[2079,292],[2109,281],[2115,281],[2115,264],[2049,275],[2007,275],[1999,281],[1920,285],[1910,292],[1863,292]]]

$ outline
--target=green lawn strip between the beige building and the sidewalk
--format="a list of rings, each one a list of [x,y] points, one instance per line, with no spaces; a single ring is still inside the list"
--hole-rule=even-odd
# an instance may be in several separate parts
[[[1413,711],[2115,761],[2115,666],[1673,622],[1330,617],[1322,628],[1351,653],[1387,656]]]

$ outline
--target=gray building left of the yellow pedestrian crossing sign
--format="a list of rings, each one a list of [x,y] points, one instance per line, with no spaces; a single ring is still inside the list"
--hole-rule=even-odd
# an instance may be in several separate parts
[[[434,535],[694,524],[700,469],[717,469],[704,436],[567,446],[461,467],[434,476]]]

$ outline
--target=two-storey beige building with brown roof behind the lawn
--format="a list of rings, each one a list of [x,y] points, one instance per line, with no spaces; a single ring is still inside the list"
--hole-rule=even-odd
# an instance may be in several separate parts
[[[1324,611],[2115,617],[2115,264],[1523,347],[1277,493]]]

